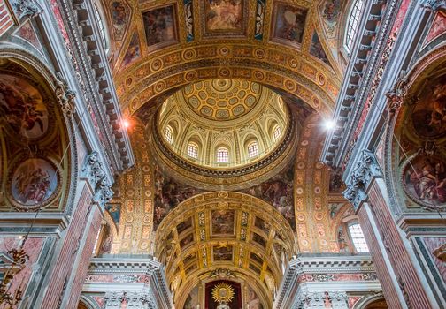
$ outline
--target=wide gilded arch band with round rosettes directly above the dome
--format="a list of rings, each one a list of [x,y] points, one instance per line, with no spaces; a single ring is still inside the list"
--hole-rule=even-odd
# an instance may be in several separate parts
[[[215,51],[208,54],[203,53],[203,46],[188,49],[177,46],[132,64],[127,74],[117,79],[120,102],[125,104],[123,109],[134,114],[145,103],[171,94],[173,89],[205,79],[237,77],[271,87],[279,93],[287,92],[307,102],[322,115],[328,115],[334,108],[339,77],[327,72],[324,65],[319,67],[319,64],[298,57],[296,50],[282,53],[273,47],[259,46],[254,49],[253,57],[248,58],[233,55],[233,52],[243,48],[253,50],[250,45],[234,46],[228,42],[225,49],[229,53],[225,51],[225,56],[219,54],[220,48],[218,44],[206,44],[206,51]],[[180,57],[181,64],[164,61],[173,56]],[[222,62],[224,68],[221,68]]]

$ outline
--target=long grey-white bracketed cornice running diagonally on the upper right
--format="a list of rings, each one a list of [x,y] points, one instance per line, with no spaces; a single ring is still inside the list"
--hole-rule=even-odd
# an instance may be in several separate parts
[[[340,166],[347,155],[350,140],[365,109],[379,61],[386,49],[388,35],[401,1],[373,0],[358,31],[358,39],[350,56],[342,89],[334,110],[336,124],[327,134],[321,159],[329,165]],[[382,11],[386,10],[384,16]],[[364,19],[366,22],[364,22]],[[364,42],[369,42],[364,44]]]

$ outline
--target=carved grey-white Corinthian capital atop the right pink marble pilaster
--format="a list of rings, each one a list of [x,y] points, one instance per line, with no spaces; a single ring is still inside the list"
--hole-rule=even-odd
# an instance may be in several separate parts
[[[355,211],[361,202],[367,198],[367,189],[373,177],[381,177],[381,169],[375,156],[370,150],[363,150],[361,159],[353,169],[350,181],[347,182],[347,190],[343,192],[344,197],[353,204]]]

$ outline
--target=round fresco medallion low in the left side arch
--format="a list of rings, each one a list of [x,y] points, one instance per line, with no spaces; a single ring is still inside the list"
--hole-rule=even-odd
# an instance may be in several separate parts
[[[12,175],[12,198],[27,208],[41,206],[57,191],[58,181],[53,164],[40,158],[27,159]]]

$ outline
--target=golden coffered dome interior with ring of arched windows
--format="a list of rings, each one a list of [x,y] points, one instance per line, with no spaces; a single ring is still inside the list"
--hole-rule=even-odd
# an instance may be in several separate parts
[[[242,79],[183,87],[165,100],[155,123],[152,135],[163,161],[213,178],[260,169],[280,158],[296,135],[281,96]]]

